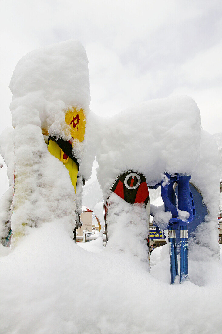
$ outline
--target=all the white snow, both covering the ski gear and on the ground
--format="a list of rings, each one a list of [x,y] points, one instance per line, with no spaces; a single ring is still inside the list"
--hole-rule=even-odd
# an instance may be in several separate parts
[[[10,89],[14,129],[0,139],[10,188],[0,202],[0,235],[11,221],[13,241],[11,249],[0,247],[0,332],[220,332],[218,149],[201,129],[196,103],[171,97],[109,119],[95,117],[87,56],[72,40],[28,53]],[[80,245],[72,240],[82,179],[75,194],[68,170],[48,152],[42,134],[46,128],[68,139],[64,113],[72,106],[84,108],[87,122],[77,147],[79,175],[89,179],[96,155],[105,200],[126,170],[143,173],[149,185],[164,172],[191,175],[208,215],[189,239],[188,281],[170,284],[168,245],[153,251],[149,269],[147,212],[116,194],[109,197],[106,247],[102,202],[94,207],[101,219],[98,238]],[[153,203],[161,205],[159,196],[159,189],[151,191]],[[162,207],[151,209],[163,218]]]

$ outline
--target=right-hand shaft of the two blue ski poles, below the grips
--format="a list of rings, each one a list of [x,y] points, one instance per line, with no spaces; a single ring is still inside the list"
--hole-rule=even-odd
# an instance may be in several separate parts
[[[188,229],[180,226],[180,282],[188,277]]]

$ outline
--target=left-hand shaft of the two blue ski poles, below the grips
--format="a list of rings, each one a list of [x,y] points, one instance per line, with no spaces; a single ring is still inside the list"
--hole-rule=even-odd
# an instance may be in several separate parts
[[[168,243],[170,253],[170,275],[171,283],[175,281],[175,277],[178,276],[178,263],[177,263],[177,243],[176,232],[172,227],[168,228]]]

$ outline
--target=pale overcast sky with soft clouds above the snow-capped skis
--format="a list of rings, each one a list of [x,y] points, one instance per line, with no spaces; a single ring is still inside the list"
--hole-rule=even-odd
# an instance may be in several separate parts
[[[2,0],[0,24],[0,132],[10,125],[9,82],[18,60],[67,39],[86,49],[94,113],[189,95],[203,129],[222,131],[221,0]]]

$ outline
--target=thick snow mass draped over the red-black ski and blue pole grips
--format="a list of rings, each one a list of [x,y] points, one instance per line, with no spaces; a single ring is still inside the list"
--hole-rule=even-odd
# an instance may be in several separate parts
[[[104,200],[116,178],[133,170],[145,175],[148,185],[159,183],[165,172],[191,176],[203,196],[208,215],[189,240],[189,256],[201,262],[218,259],[219,207],[218,150],[213,137],[201,129],[200,111],[190,97],[170,97],[134,106],[101,120],[102,141],[96,160]],[[165,178],[165,176],[164,176]],[[165,178],[165,183],[169,182]],[[159,213],[157,211],[161,210]],[[162,208],[151,206],[160,228],[166,228]],[[187,219],[187,214],[183,214]],[[107,243],[108,245],[108,243]],[[198,279],[197,279],[198,280]]]

